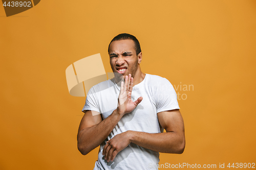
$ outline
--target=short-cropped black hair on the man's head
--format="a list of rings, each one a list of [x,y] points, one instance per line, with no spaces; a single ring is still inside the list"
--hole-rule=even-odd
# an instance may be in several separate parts
[[[138,55],[141,52],[139,40],[131,34],[127,34],[127,33],[118,34],[111,40],[111,42],[124,40],[124,39],[130,39],[130,40],[134,41],[136,55]],[[111,44],[111,42],[110,42],[110,44]],[[109,54],[110,54],[110,44],[109,44],[109,49],[108,49]]]

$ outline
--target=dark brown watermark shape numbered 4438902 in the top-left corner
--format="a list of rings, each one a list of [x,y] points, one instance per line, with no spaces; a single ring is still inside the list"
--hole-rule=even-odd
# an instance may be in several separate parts
[[[29,10],[36,6],[40,0],[27,0],[27,1],[5,1],[2,0],[6,16],[12,16],[24,11]]]

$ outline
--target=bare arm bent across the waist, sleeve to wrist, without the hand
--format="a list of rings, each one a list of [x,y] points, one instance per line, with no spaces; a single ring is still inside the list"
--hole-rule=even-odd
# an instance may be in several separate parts
[[[131,142],[156,152],[182,154],[185,148],[184,123],[179,110],[158,113],[160,125],[166,133],[131,131]]]

